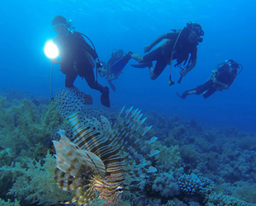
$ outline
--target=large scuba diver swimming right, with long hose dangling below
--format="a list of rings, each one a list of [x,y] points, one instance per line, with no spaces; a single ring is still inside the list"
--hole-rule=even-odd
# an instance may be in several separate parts
[[[135,68],[145,68],[148,67],[150,70],[150,78],[152,80],[159,77],[159,75],[164,71],[164,68],[170,65],[170,76],[168,85],[173,85],[172,81],[172,61],[177,59],[177,63],[174,67],[181,67],[181,64],[185,66],[180,72],[181,77],[178,83],[181,82],[182,78],[187,75],[189,71],[196,66],[197,63],[197,45],[202,41],[201,36],[204,35],[204,31],[201,29],[201,25],[197,23],[188,22],[187,26],[181,30],[173,30],[173,33],[166,33],[160,35],[159,38],[153,41],[153,43],[145,46],[144,52],[149,52],[156,44],[164,40],[159,47],[145,54],[145,56],[140,56],[140,54],[132,54],[131,58],[138,61],[140,64],[132,64],[131,66]],[[190,56],[189,56],[190,54]],[[153,67],[152,61],[156,61]]]

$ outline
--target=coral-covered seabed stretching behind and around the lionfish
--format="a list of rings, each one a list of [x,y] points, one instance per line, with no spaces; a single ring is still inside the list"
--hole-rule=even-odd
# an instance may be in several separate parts
[[[1,205],[59,205],[59,201],[70,200],[67,193],[61,194],[53,180],[55,157],[47,151],[55,152],[51,141],[58,140],[56,131],[64,129],[69,136],[71,129],[59,116],[55,104],[42,102],[45,101],[0,96]],[[92,115],[103,114],[112,122],[117,116],[115,110],[111,110],[112,114],[106,110],[88,110],[92,110]],[[161,152],[143,164],[149,165],[150,160],[159,171],[144,180],[136,179],[138,183],[132,186],[129,185],[135,180],[127,178],[128,186],[120,205],[136,205],[142,196],[147,205],[154,206],[256,203],[255,133],[205,128],[195,119],[186,122],[178,115],[145,115],[148,116],[145,124],[153,125],[145,138],[149,141],[157,136],[159,141],[150,147]],[[142,153],[149,154],[149,149]],[[100,199],[92,202],[99,204],[102,204]]]

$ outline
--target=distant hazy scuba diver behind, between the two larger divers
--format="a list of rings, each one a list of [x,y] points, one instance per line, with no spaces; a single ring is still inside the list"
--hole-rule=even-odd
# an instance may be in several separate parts
[[[132,54],[131,52],[125,54],[122,49],[115,50],[116,49],[112,50],[111,59],[107,61],[106,65],[107,72],[103,74],[113,91],[116,91],[116,87],[112,81],[119,77],[123,68],[125,68],[126,64],[129,62]]]

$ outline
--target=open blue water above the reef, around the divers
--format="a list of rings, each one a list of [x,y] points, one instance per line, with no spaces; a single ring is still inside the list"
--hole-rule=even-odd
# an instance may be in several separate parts
[[[127,65],[114,81],[117,91],[111,92],[111,106],[135,105],[196,119],[211,127],[256,131],[255,6],[254,0],[2,1],[0,87],[50,97],[50,60],[43,48],[46,40],[55,36],[51,21],[56,15],[71,19],[76,30],[88,35],[103,61],[110,58],[112,49],[143,54],[145,45],[159,35],[183,28],[188,21],[198,22],[205,30],[204,40],[198,46],[196,68],[182,84],[168,86],[168,67],[152,81],[148,68]],[[182,93],[204,83],[225,59],[235,59],[244,66],[229,90],[216,92],[206,100],[202,96],[188,96],[186,100],[176,96],[177,91]],[[173,79],[178,81],[178,77],[178,68],[173,68]],[[107,85],[102,77],[98,81]],[[92,91],[79,78],[75,85],[93,96],[94,105],[100,105],[98,91]],[[59,87],[64,87],[64,74],[55,65],[54,91]]]

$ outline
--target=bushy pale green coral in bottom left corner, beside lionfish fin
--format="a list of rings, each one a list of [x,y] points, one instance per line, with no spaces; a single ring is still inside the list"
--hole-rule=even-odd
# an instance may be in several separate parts
[[[8,194],[42,205],[59,204],[60,201],[72,199],[71,194],[60,190],[55,184],[55,157],[47,153],[44,162],[42,165],[41,162],[26,158],[23,162],[13,162],[12,166],[2,166],[2,177],[11,172],[14,181]]]

